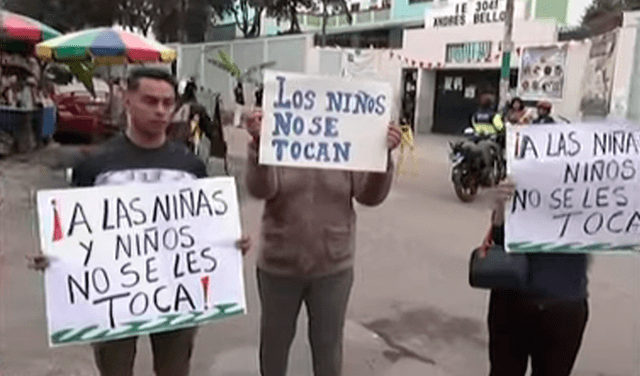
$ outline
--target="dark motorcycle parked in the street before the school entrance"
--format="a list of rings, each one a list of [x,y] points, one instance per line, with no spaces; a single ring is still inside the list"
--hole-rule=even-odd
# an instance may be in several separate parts
[[[449,143],[451,147],[451,180],[456,195],[462,202],[472,202],[480,187],[491,187],[504,180],[507,176],[507,165],[502,150],[502,135],[478,136],[473,129],[465,130],[465,140]],[[492,166],[485,169],[482,149],[478,143],[491,140],[490,147]],[[488,173],[487,173],[488,172]]]

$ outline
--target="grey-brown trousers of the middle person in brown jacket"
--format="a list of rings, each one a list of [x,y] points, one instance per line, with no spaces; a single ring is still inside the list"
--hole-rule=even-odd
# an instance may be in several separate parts
[[[281,277],[258,270],[262,304],[260,373],[285,376],[302,302],[309,316],[309,343],[315,376],[342,372],[342,334],[353,270],[326,277]]]

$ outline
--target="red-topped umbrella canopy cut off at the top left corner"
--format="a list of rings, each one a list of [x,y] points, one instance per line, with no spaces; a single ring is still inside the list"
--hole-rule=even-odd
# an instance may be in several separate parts
[[[29,0],[27,0],[29,1]],[[32,44],[60,36],[60,32],[32,18],[0,10],[0,37]]]

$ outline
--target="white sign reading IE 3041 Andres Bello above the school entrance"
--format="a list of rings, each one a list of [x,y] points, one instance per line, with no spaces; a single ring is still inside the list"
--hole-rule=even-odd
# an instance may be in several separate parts
[[[470,0],[433,7],[427,13],[427,27],[483,25],[504,22],[506,0]]]

